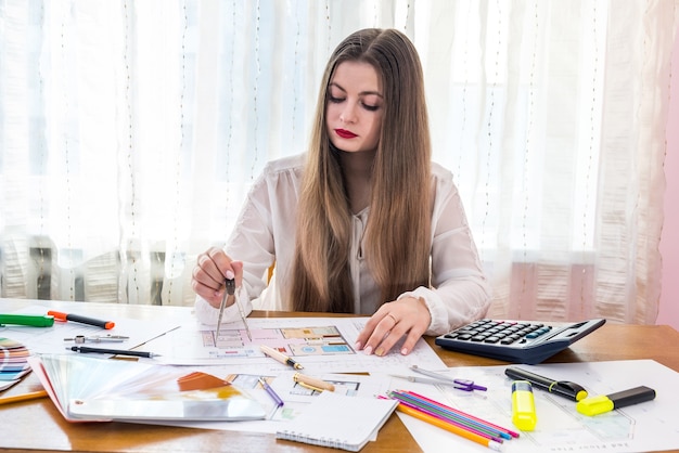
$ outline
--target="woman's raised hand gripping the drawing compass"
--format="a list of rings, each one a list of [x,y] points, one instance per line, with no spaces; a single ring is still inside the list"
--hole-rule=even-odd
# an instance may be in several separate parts
[[[235,279],[235,286],[241,286],[243,262],[233,261],[217,247],[210,247],[198,255],[191,276],[191,286],[195,294],[207,300],[210,306],[219,308],[226,290],[226,279]],[[233,298],[230,299],[233,303]]]

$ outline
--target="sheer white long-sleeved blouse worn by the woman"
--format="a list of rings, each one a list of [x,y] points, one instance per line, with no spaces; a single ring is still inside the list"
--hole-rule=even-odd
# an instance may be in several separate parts
[[[291,311],[283,303],[280,288],[291,279],[297,232],[297,203],[305,155],[268,163],[253,184],[236,225],[225,248],[227,255],[243,261],[240,300],[246,313],[253,309]],[[398,298],[422,297],[432,314],[426,335],[443,335],[454,327],[483,318],[490,303],[472,232],[452,174],[432,164],[434,208],[432,211],[432,287],[418,287]],[[354,311],[372,314],[382,303],[361,255],[361,242],[370,208],[353,217],[350,272],[354,283]],[[267,271],[276,262],[267,287]],[[216,324],[218,309],[201,297],[195,313],[202,323]],[[222,322],[240,318],[235,305],[227,307]]]

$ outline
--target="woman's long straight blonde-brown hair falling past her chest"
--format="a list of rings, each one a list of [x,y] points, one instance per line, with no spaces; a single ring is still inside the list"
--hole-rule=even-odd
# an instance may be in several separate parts
[[[321,82],[287,295],[296,311],[354,311],[351,212],[325,125],[329,83],[345,61],[371,64],[383,88],[384,114],[363,249],[381,288],[381,302],[430,283],[432,152],[422,66],[414,46],[400,31],[363,29],[337,46]]]

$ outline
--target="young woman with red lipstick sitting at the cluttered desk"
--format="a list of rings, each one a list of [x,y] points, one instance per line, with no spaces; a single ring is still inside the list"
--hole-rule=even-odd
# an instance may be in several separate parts
[[[364,29],[335,49],[308,152],[267,164],[226,249],[197,259],[200,321],[217,321],[225,277],[248,313],[259,298],[372,314],[356,345],[369,354],[400,340],[408,354],[423,334],[485,315],[487,283],[452,176],[431,161],[422,67],[403,34]],[[225,320],[238,316],[231,302]]]

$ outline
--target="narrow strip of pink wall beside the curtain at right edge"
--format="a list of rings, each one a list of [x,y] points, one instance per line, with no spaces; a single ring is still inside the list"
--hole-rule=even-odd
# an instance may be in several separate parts
[[[675,42],[671,75],[665,158],[665,221],[659,246],[663,290],[656,324],[669,324],[679,331],[679,34]]]

